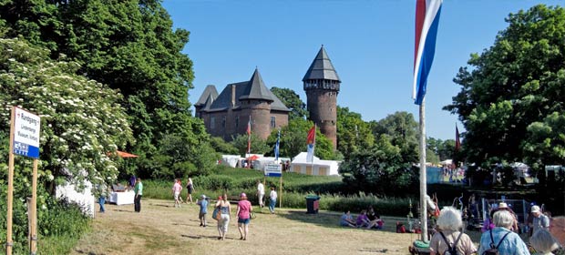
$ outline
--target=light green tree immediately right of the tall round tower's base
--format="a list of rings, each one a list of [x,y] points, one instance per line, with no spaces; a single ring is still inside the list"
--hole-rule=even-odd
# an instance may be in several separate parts
[[[344,158],[373,147],[374,142],[371,127],[361,118],[361,114],[349,111],[348,107],[337,107],[337,150]]]

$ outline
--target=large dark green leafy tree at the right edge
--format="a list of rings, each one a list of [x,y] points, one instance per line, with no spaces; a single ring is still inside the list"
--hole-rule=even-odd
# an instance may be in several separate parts
[[[562,158],[559,149],[550,158],[538,149],[559,143],[559,135],[547,130],[559,118],[553,115],[565,111],[565,10],[536,5],[506,21],[494,45],[459,69],[454,81],[461,91],[444,109],[459,115],[467,129],[467,161],[488,168],[523,158],[538,165],[555,161]]]

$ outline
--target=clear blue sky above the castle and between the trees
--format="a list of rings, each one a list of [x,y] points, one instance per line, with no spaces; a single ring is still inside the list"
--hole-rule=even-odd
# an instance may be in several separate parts
[[[453,83],[471,53],[492,46],[509,13],[562,1],[445,0],[426,94],[428,137],[453,139],[457,116],[442,110],[459,87]],[[365,121],[407,111],[412,100],[414,0],[165,0],[173,26],[190,31],[184,53],[194,62],[195,103],[204,87],[219,92],[249,80],[255,66],[267,87],[287,87],[303,101],[302,78],[324,45],[342,79],[338,105]]]

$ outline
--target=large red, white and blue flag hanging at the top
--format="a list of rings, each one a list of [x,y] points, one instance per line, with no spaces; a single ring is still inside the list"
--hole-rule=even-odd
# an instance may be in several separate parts
[[[442,0],[416,0],[416,46],[412,98],[421,105],[426,96],[427,75],[436,53],[437,26]]]

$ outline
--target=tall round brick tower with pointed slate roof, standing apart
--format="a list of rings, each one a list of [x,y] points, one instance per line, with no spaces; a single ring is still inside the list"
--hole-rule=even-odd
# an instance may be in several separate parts
[[[341,83],[332,60],[322,46],[304,75],[303,84],[310,119],[332,141],[334,149],[337,147],[337,94]]]

